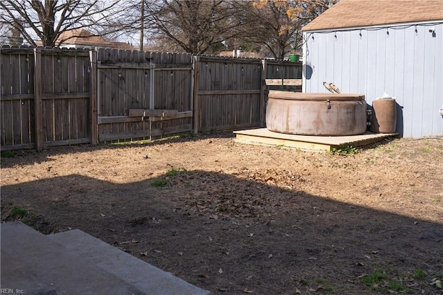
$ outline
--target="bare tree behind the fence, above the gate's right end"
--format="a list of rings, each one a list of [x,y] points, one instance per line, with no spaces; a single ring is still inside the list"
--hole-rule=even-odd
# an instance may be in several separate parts
[[[207,53],[224,40],[239,37],[245,23],[233,1],[162,0],[145,6],[150,33],[188,53]]]

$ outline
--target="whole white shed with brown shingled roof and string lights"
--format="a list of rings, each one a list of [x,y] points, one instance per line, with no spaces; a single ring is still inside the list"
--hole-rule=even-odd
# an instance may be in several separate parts
[[[443,0],[341,0],[303,37],[303,92],[386,92],[402,136],[443,135]]]

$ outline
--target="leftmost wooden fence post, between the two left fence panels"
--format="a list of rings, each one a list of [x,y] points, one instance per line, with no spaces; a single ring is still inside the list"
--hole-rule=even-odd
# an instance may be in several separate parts
[[[42,116],[42,48],[34,48],[34,111],[35,111],[35,149],[43,150]]]

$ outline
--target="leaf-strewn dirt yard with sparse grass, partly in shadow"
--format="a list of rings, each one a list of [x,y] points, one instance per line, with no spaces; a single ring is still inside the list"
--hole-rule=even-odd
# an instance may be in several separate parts
[[[442,138],[347,152],[230,134],[2,152],[1,220],[81,229],[213,294],[443,294]]]

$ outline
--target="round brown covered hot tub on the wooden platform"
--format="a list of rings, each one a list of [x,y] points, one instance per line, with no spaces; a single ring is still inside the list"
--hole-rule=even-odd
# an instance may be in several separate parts
[[[366,131],[362,94],[269,91],[266,128],[272,132],[345,136]]]

